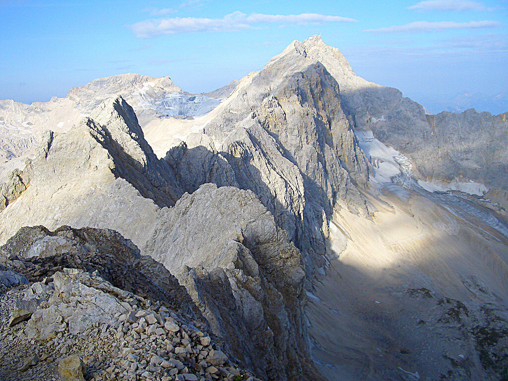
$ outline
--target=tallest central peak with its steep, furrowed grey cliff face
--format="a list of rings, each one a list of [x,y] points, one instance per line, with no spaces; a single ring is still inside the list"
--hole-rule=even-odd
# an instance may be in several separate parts
[[[165,159],[189,193],[204,182],[252,190],[308,268],[320,267],[314,253],[325,252],[323,226],[335,203],[368,213],[355,184],[366,184],[369,164],[338,95],[321,63],[296,52],[274,58],[238,85],[203,134]]]

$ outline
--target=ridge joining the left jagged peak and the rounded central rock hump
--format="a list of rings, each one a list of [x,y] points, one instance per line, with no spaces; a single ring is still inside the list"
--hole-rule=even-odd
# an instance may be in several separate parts
[[[269,378],[320,377],[301,323],[300,251],[250,191],[206,184],[168,208],[180,192],[172,169],[121,98],[70,132],[48,133],[26,176],[29,185],[0,215],[2,239],[35,224],[116,229],[178,276],[246,366]],[[224,286],[208,274],[221,274]]]

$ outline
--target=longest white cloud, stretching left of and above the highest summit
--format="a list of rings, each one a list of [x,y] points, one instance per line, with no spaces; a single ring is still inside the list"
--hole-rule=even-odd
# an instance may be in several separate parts
[[[256,24],[274,23],[308,23],[308,22],[356,22],[357,20],[341,16],[302,13],[300,15],[264,15],[234,12],[223,18],[174,17],[166,19],[145,20],[129,27],[137,37],[149,38],[160,35],[184,32],[214,32],[251,29]]]

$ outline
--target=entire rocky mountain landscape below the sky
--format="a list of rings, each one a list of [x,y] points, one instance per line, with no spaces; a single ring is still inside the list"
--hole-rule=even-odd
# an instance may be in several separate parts
[[[508,114],[429,115],[319,36],[209,95],[0,103],[0,337],[93,379],[504,377]]]

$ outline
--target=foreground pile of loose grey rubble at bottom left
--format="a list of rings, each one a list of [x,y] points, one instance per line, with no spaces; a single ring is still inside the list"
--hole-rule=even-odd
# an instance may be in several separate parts
[[[48,254],[48,247],[41,252]],[[99,270],[47,269],[50,260],[65,261],[65,253],[6,257],[6,248],[0,256],[0,379],[257,379],[221,351],[192,308],[117,288]],[[22,275],[43,269],[51,276],[35,275],[41,281]]]

